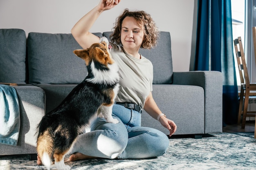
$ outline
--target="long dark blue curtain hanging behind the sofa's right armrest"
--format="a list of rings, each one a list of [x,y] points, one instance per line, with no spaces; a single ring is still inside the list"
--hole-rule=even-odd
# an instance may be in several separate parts
[[[221,71],[223,121],[236,124],[238,87],[233,54],[231,0],[198,0],[195,70]]]

